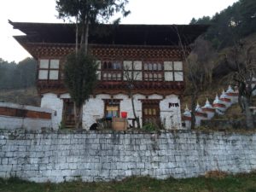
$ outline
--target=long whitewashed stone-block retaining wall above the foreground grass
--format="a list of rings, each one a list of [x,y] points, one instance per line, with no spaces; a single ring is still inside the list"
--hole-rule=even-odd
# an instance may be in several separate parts
[[[0,131],[0,177],[35,182],[198,177],[256,169],[256,134]]]

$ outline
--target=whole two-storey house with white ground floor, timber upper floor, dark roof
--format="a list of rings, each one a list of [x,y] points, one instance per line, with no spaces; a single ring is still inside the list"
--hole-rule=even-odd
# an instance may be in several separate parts
[[[63,84],[65,56],[75,48],[75,26],[56,23],[9,23],[26,35],[15,39],[38,60],[37,87],[41,107],[55,110],[53,127],[73,125],[73,102]],[[142,125],[181,126],[180,96],[185,87],[186,45],[207,30],[191,25],[98,25],[90,27],[89,49],[99,63],[98,83],[83,108],[83,127],[127,112],[134,118],[124,68],[137,73],[135,110]],[[183,44],[181,49],[180,44]],[[131,121],[129,122],[131,124]]]

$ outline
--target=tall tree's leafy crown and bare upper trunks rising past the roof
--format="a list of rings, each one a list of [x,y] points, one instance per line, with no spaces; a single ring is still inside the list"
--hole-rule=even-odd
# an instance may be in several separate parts
[[[115,13],[121,12],[126,16],[130,11],[125,10],[128,0],[56,0],[56,9],[60,18],[75,18],[76,20],[76,51],[88,51],[89,26],[98,22],[108,21]],[[115,20],[117,23],[119,19]],[[79,32],[80,28],[80,32]]]

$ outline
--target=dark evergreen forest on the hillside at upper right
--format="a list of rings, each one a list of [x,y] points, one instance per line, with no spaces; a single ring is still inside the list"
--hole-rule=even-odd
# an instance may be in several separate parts
[[[256,32],[256,1],[240,0],[232,6],[216,13],[212,18],[204,16],[190,24],[211,25],[205,34],[216,49],[233,44],[233,39],[244,38]]]

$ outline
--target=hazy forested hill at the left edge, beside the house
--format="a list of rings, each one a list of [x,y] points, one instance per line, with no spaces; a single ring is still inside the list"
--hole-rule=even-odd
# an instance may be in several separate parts
[[[18,64],[0,58],[0,90],[32,87],[36,84],[37,61],[26,58]]]

